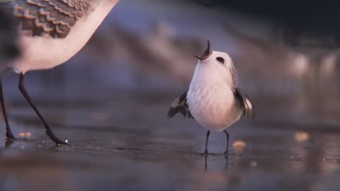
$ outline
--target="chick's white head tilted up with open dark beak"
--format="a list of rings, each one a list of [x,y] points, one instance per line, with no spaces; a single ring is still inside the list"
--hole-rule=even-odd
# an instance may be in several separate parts
[[[196,69],[198,73],[210,81],[216,79],[227,81],[230,86],[237,87],[237,71],[229,55],[225,52],[212,51],[208,40],[208,47],[203,54],[198,57]]]

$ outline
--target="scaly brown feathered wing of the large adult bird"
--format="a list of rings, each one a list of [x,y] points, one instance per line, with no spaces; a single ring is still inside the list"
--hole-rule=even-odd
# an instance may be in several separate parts
[[[12,0],[1,4],[16,19],[18,30],[29,36],[67,37],[96,0]]]

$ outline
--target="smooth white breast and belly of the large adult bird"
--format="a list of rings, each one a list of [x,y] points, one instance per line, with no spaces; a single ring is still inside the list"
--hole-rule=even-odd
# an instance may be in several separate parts
[[[20,45],[23,55],[11,64],[14,71],[25,73],[35,69],[50,69],[67,62],[86,44],[118,0],[97,2],[94,10],[77,21],[65,38],[21,35]]]

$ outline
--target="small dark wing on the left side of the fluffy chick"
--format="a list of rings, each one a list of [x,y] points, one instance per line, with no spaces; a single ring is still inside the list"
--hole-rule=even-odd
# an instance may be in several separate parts
[[[188,100],[186,98],[188,91],[184,92],[176,98],[174,103],[172,103],[169,112],[168,112],[168,117],[174,117],[178,112],[180,112],[184,117],[188,117],[193,119],[193,115],[191,115],[191,112],[188,107]]]

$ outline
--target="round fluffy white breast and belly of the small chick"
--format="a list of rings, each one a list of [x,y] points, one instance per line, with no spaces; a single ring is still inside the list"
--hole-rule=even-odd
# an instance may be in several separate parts
[[[196,67],[187,99],[191,115],[207,129],[222,131],[242,115],[229,83],[200,65]]]

